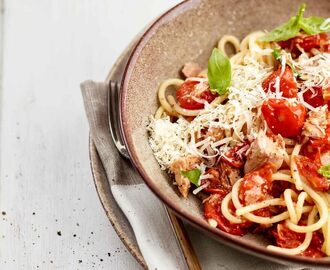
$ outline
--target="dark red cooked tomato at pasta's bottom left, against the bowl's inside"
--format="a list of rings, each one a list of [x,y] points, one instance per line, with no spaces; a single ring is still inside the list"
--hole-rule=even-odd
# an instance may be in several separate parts
[[[221,213],[221,202],[225,196],[226,192],[223,192],[223,194],[212,194],[206,199],[204,202],[204,216],[206,219],[214,219],[218,223],[217,227],[220,230],[226,233],[242,236],[246,234],[246,227],[248,227],[250,223],[244,222],[241,224],[234,224],[224,217]],[[229,207],[233,212],[235,211],[232,203],[229,204]]]

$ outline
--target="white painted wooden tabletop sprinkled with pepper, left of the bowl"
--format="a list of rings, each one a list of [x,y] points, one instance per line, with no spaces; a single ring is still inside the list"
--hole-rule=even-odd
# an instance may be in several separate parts
[[[177,2],[4,1],[0,269],[140,268],[95,192],[79,83]]]

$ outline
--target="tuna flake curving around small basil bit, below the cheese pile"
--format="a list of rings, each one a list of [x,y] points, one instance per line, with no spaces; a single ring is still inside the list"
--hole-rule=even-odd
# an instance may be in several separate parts
[[[181,174],[181,171],[190,171],[196,168],[202,160],[196,156],[188,156],[176,159],[170,166],[170,170],[174,173],[175,181],[178,184],[180,193],[184,198],[187,198],[190,181],[187,177]]]

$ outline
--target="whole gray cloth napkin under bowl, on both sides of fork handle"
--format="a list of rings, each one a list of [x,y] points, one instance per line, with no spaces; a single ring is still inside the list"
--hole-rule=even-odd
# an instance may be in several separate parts
[[[107,87],[104,83],[81,84],[92,140],[110,180],[110,188],[119,207],[130,222],[141,253],[149,269],[185,269],[180,248],[172,232],[164,206],[121,158],[110,133],[107,114]],[[301,269],[265,261],[209,239],[188,227],[203,269]]]

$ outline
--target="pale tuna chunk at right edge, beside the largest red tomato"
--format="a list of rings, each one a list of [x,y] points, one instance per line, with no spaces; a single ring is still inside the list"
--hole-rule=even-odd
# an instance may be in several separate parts
[[[308,118],[303,126],[302,135],[308,138],[321,139],[326,135],[327,106],[318,107],[308,113]]]

